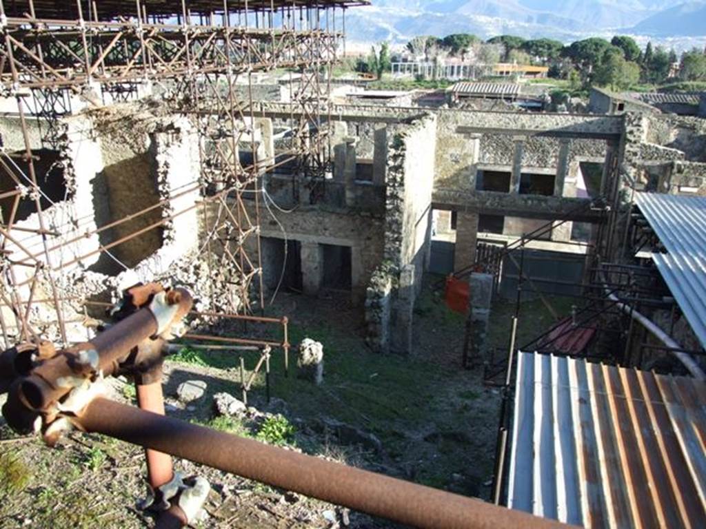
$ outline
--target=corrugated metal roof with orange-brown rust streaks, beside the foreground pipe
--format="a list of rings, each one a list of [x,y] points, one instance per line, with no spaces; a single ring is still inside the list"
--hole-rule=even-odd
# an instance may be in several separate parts
[[[508,506],[585,527],[706,527],[706,384],[519,353]]]

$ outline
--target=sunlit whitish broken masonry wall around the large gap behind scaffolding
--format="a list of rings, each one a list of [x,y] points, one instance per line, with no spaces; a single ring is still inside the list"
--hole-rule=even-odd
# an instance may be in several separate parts
[[[102,111],[104,112],[104,111]],[[123,288],[138,281],[150,281],[158,276],[177,276],[172,265],[179,257],[189,253],[196,246],[196,209],[194,214],[188,212],[183,217],[167,222],[162,231],[159,248],[145,259],[124,269],[124,263],[117,257],[118,246],[110,248],[108,253],[101,253],[106,244],[101,234],[92,233],[107,222],[121,219],[122,210],[113,209],[116,200],[140,203],[140,191],[153,186],[149,193],[159,200],[169,199],[185,190],[186,183],[198,177],[198,139],[196,132],[186,118],[155,118],[141,116],[140,126],[132,126],[135,117],[121,123],[130,130],[132,137],[128,138],[131,145],[122,145],[116,135],[105,135],[105,123],[100,123],[105,117],[103,113],[80,114],[62,121],[64,133],[59,139],[59,160],[64,169],[66,181],[66,200],[56,202],[44,209],[42,217],[45,227],[51,231],[46,237],[49,248],[49,267],[38,274],[39,281],[35,286],[35,299],[49,299],[52,289],[49,286],[49,274],[52,274],[56,288],[61,298],[71,298],[72,301],[62,303],[62,312],[67,320],[67,339],[80,341],[85,339],[86,329],[80,324],[83,308],[80,300],[100,297],[102,300],[116,300]],[[109,120],[116,118],[110,116]],[[126,141],[128,141],[126,140]],[[130,159],[132,147],[140,145],[143,157],[139,169],[149,168],[148,174],[136,174],[124,171],[114,174],[114,181],[125,188],[123,195],[110,192],[104,186],[104,174],[110,164],[119,164],[121,160]],[[115,154],[112,150],[120,150],[123,154]],[[125,157],[128,158],[125,158]],[[131,166],[136,169],[136,166]],[[41,175],[39,176],[41,180]],[[140,182],[141,181],[141,182]],[[140,187],[142,186],[142,187]],[[40,186],[41,187],[41,186]],[[128,193],[128,189],[137,189],[137,193]],[[181,193],[174,202],[167,202],[164,207],[157,207],[156,219],[169,217],[177,211],[183,211],[190,206],[196,206],[198,188],[191,193]],[[140,204],[141,207],[141,204]],[[108,214],[107,214],[108,213]],[[110,216],[109,214],[114,216]],[[124,212],[123,212],[124,213]],[[22,228],[39,228],[38,215],[32,214],[28,219],[18,224]],[[54,234],[56,233],[56,234]],[[92,233],[87,235],[87,233]],[[28,233],[23,236],[23,247],[37,255],[37,259],[46,262],[44,245],[38,235]],[[20,250],[13,250],[18,251]],[[21,252],[24,254],[24,252]],[[20,258],[27,257],[20,255]],[[111,257],[111,255],[113,257]],[[120,261],[120,262],[118,262]],[[17,283],[22,283],[34,273],[28,267],[15,267],[18,274]],[[50,272],[49,269],[53,271]],[[30,288],[25,286],[24,288]],[[28,298],[28,292],[20,292]],[[51,303],[35,303],[33,309],[35,321],[45,322],[40,329],[47,339],[59,339],[59,328],[56,322],[56,310]]]

